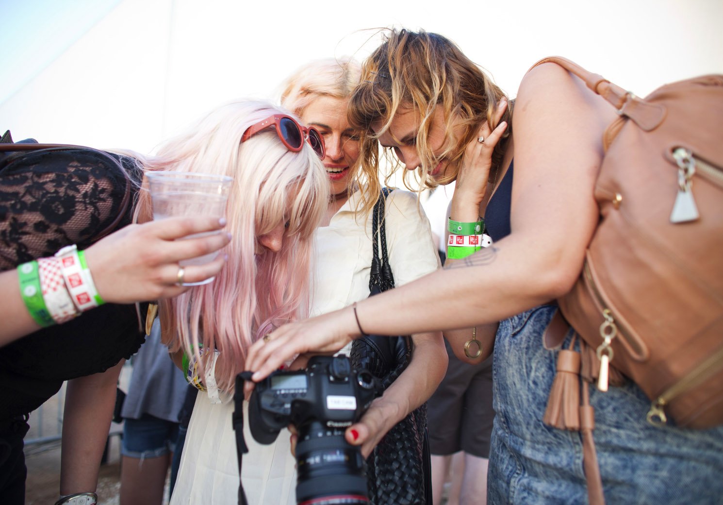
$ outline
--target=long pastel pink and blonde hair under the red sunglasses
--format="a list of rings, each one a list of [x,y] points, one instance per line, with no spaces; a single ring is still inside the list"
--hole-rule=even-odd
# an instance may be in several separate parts
[[[213,354],[201,355],[199,344],[218,349],[216,381],[227,391],[244,370],[254,341],[282,323],[308,316],[312,234],[329,194],[322,162],[306,143],[292,153],[273,130],[241,143],[249,126],[272,114],[290,113],[266,102],[228,103],[168,140],[156,156],[140,159],[146,170],[234,177],[226,206],[226,229],[232,236],[226,266],[210,284],[160,305],[169,351],[195,354],[204,370]],[[150,214],[150,195],[141,190],[137,216],[147,219]],[[284,221],[288,229],[281,251],[254,255],[257,237]]]

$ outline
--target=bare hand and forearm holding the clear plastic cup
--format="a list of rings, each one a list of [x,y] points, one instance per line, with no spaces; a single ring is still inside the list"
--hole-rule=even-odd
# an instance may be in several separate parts
[[[213,254],[228,244],[226,233],[187,238],[192,234],[219,232],[225,219],[176,217],[119,229],[85,250],[87,267],[104,302],[134,303],[175,297],[189,289],[176,284],[179,262]],[[204,281],[215,276],[226,263],[218,255],[211,263],[185,266],[183,280]],[[33,333],[40,325],[31,317],[22,294],[17,270],[0,273],[0,346]]]

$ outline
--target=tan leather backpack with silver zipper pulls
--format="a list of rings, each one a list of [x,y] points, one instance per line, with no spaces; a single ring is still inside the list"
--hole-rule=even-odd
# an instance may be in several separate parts
[[[600,220],[575,287],[557,300],[599,359],[651,399],[648,420],[723,423],[723,75],[646,98],[560,57],[615,106],[595,186]]]

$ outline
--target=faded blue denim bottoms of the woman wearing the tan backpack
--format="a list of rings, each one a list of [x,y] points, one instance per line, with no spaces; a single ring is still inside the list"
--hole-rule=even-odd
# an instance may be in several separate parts
[[[536,307],[502,321],[497,331],[490,504],[587,503],[580,433],[542,423],[557,359],[543,347],[542,334],[555,310]],[[563,346],[569,341],[570,335]],[[723,426],[657,428],[646,421],[650,400],[630,381],[590,392],[608,504],[723,503]]]

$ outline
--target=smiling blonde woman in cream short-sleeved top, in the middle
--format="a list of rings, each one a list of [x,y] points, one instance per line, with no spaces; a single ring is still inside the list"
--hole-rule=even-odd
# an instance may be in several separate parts
[[[360,142],[349,125],[347,104],[359,83],[361,68],[346,58],[312,61],[286,82],[281,101],[324,137],[324,166],[331,184],[325,219],[315,232],[316,276],[312,314],[320,315],[369,297],[372,263],[372,208],[380,198],[376,169],[361,169]],[[385,205],[386,239],[396,286],[439,268],[437,247],[416,195],[393,190]],[[382,437],[437,389],[447,369],[440,331],[412,335],[414,351],[408,368],[359,423],[346,430],[346,440],[368,457]],[[342,352],[348,352],[343,349]],[[426,424],[426,418],[425,418]],[[392,485],[391,475],[368,470],[367,478]],[[370,496],[370,498],[373,498]],[[424,504],[416,496],[414,504]]]

